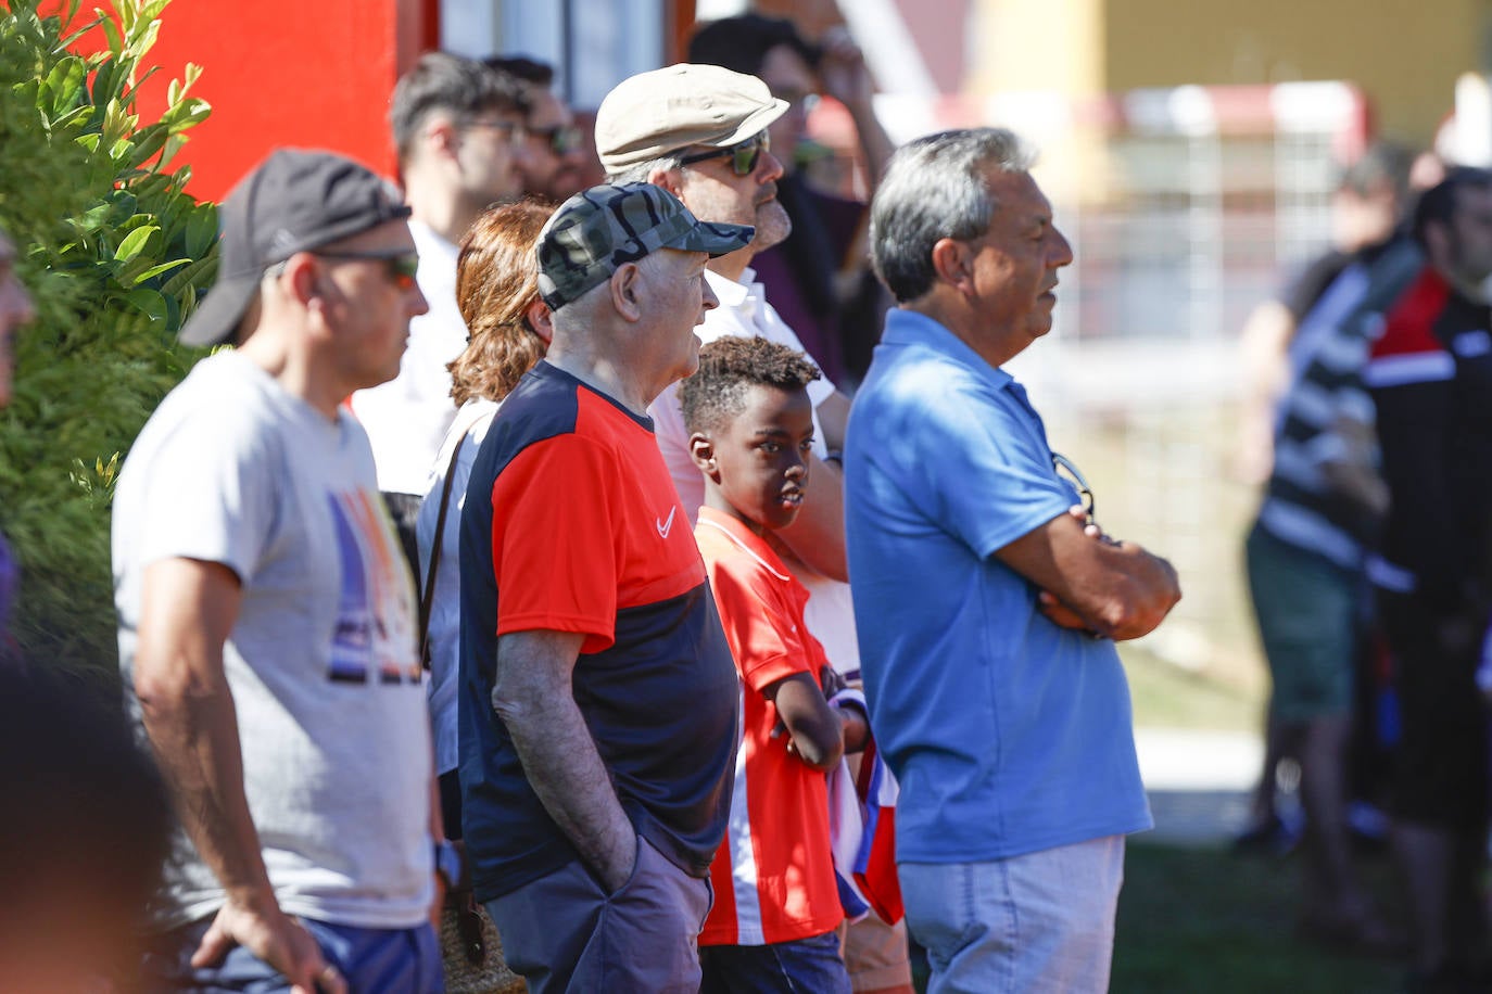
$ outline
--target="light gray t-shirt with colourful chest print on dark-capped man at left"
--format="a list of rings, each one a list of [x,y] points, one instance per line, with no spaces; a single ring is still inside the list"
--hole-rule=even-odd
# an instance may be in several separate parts
[[[243,584],[224,645],[243,785],[286,914],[407,928],[433,900],[431,745],[409,568],[373,455],[346,411],[328,422],[242,355],[200,362],[119,474],[115,605],[133,696],[145,568],[224,563]],[[152,924],[222,903],[178,832]]]

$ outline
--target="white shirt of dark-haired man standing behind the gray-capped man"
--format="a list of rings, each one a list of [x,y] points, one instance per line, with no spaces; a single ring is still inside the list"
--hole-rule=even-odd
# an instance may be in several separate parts
[[[466,349],[468,332],[457,307],[460,250],[418,221],[409,231],[419,250],[415,279],[430,311],[409,322],[398,376],[354,393],[352,413],[373,444],[379,489],[424,495],[430,462],[457,416],[446,364]]]

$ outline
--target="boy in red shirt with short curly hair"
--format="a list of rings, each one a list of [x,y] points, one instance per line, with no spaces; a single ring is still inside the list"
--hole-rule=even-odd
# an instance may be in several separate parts
[[[825,772],[862,750],[868,729],[859,709],[825,697],[833,671],[803,623],[809,593],[770,541],[806,496],[806,386],[818,377],[800,352],[728,337],[700,350],[698,373],[679,390],[706,481],[695,539],[742,675],[731,818],[700,934],[704,993],[850,990]]]

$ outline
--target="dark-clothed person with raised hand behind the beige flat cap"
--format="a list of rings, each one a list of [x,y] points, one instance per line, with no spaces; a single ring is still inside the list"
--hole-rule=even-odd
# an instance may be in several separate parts
[[[859,48],[844,28],[821,43],[804,39],[792,21],[745,13],[701,25],[688,60],[758,76],[788,110],[770,127],[771,152],[782,162],[777,200],[792,232],[753,259],[756,279],[824,376],[858,380],[870,362],[888,301],[865,252],[868,207],[810,185],[801,161],[809,148],[809,110],[822,92],[849,112],[864,158],[867,197],[876,192],[894,146],[876,119],[874,83]]]

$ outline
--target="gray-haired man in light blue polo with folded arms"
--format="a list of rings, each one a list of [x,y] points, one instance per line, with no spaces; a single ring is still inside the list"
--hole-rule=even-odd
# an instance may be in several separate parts
[[[1170,563],[1085,526],[1001,370],[1073,261],[1029,161],[1003,130],[919,139],[871,206],[898,308],[850,414],[846,529],[934,994],[1107,988],[1123,836],[1150,827],[1115,639],[1180,599]]]

